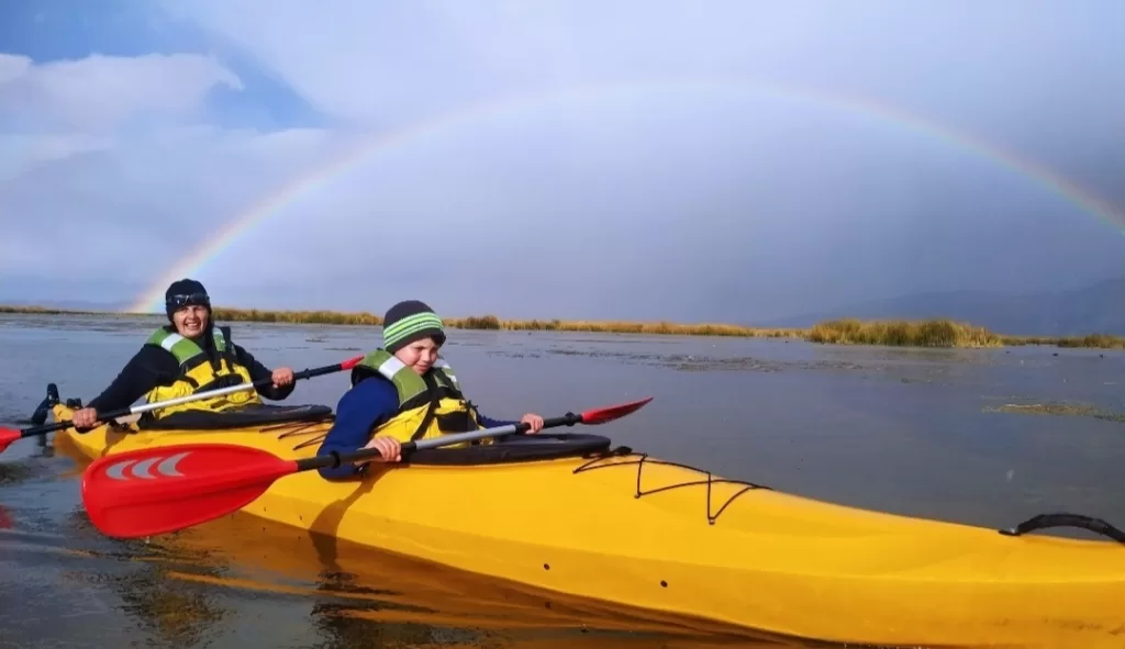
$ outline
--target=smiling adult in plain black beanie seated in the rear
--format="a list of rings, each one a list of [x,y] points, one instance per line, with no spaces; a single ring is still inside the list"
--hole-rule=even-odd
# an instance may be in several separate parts
[[[163,402],[267,377],[273,379],[272,386],[150,411],[138,422],[143,426],[177,413],[217,413],[260,404],[261,397],[281,400],[292,393],[291,369],[269,370],[231,342],[230,327],[215,326],[210,297],[200,282],[194,279],[172,282],[164,292],[164,310],[171,324],[153,332],[109,387],[87,407],[74,412],[72,421],[76,429],[92,427],[99,412],[127,408],[142,396],[146,403]]]

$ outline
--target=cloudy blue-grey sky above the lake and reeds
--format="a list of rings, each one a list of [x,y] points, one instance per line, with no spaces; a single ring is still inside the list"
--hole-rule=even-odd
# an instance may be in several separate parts
[[[182,272],[238,307],[753,323],[1122,277],[1123,26],[1119,0],[7,2],[0,303],[128,308]]]

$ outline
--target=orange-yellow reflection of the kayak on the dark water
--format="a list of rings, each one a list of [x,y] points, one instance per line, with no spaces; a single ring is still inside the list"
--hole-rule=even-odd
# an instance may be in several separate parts
[[[232,542],[251,534],[252,544]],[[523,647],[560,636],[568,638],[567,646],[584,648],[587,641],[594,642],[588,646],[601,646],[606,633],[659,639],[660,643],[691,638],[711,643],[737,640],[741,646],[791,646],[718,623],[502,583],[243,514],[200,525],[168,542],[179,552],[206,549],[238,566],[238,570],[214,580],[216,586],[312,596],[309,615],[324,642],[317,646],[325,648],[380,642]],[[328,547],[332,552],[326,555]]]

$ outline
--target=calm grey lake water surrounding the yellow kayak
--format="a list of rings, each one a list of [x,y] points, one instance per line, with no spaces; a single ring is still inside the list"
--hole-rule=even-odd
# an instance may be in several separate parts
[[[0,315],[0,425],[28,425],[48,382],[91,399],[161,322]],[[359,355],[380,335],[233,327],[267,366],[296,370]],[[654,396],[596,432],[778,490],[988,528],[1059,510],[1125,525],[1125,423],[1081,414],[1125,411],[1119,352],[452,331],[444,355],[493,417]],[[300,381],[287,403],[334,407],[345,388],[345,373]],[[1004,408],[1032,404],[1079,414]],[[333,571],[298,532],[240,516],[114,541],[89,524],[81,466],[63,450],[30,439],[0,454],[0,647],[774,645],[577,601],[544,606],[369,550]]]

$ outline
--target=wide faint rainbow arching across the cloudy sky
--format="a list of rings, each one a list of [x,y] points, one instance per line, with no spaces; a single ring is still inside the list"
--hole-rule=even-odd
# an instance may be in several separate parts
[[[312,172],[296,178],[282,186],[278,191],[264,196],[261,200],[251,205],[249,209],[231,220],[225,228],[204,241],[202,244],[177,261],[168,272],[138,296],[127,310],[134,313],[163,312],[164,290],[169,283],[177,279],[198,273],[210,260],[222,254],[232,243],[253,229],[255,225],[267,220],[271,215],[281,211],[285,207],[308,196],[317,188],[323,187],[333,179],[342,175],[349,169],[375,155],[385,155],[404,147],[417,146],[485,118],[518,116],[521,111],[566,100],[605,98],[616,93],[627,96],[637,94],[639,99],[645,99],[646,93],[651,93],[656,90],[690,91],[716,89],[807,101],[817,106],[828,106],[861,117],[878,118],[898,125],[966,153],[992,161],[1002,168],[1034,180],[1047,191],[1058,195],[1081,210],[1106,222],[1118,229],[1118,232],[1125,231],[1125,216],[1117,213],[1110,205],[1097,196],[1048,168],[1020,157],[1011,151],[984,142],[968,133],[938,124],[920,115],[908,112],[902,108],[879,102],[872,98],[738,76],[693,75],[688,78],[656,78],[624,83],[572,85],[505,94],[364,138],[360,144],[349,147],[344,155],[331,164],[314,169]]]

